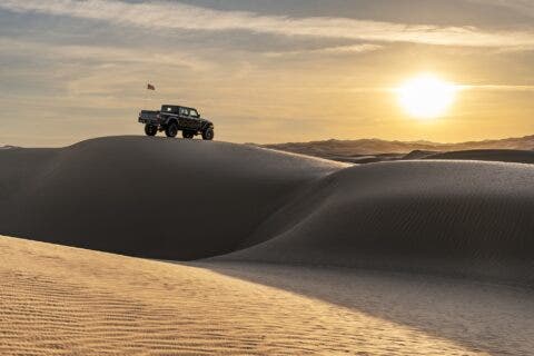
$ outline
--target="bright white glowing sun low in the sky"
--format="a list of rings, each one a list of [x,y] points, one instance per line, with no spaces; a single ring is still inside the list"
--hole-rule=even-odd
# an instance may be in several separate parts
[[[456,99],[458,87],[432,73],[419,75],[396,90],[400,106],[418,119],[443,117]]]

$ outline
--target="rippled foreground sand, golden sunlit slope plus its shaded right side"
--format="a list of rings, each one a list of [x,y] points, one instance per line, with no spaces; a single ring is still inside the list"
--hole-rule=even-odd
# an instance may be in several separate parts
[[[178,266],[7,237],[0,276],[1,355],[472,356],[534,347],[532,295],[507,287]]]

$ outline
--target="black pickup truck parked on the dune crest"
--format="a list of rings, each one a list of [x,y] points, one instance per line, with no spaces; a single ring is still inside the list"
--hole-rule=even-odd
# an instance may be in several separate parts
[[[159,111],[142,110],[139,112],[139,122],[145,123],[145,134],[156,136],[165,131],[167,137],[176,137],[181,130],[184,138],[194,138],[201,135],[205,140],[212,140],[214,123],[200,117],[194,108],[177,105],[164,105]]]

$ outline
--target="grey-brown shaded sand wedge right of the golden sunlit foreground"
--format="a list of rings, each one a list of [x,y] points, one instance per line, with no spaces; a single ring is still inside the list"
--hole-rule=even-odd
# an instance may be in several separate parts
[[[188,265],[406,325],[473,352],[530,355],[534,347],[534,295],[528,289],[343,268],[224,261]]]

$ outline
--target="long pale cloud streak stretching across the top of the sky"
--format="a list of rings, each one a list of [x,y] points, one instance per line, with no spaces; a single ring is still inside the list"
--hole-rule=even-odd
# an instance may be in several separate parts
[[[495,2],[496,0],[491,1]],[[530,7],[527,1],[515,0],[513,2],[516,6]],[[179,2],[0,0],[0,8],[16,12],[69,16],[150,29],[244,30],[281,36],[472,47],[527,47],[534,44],[534,32],[528,31],[503,32],[484,31],[474,27],[408,26],[334,17],[261,16],[245,11],[219,11]]]

